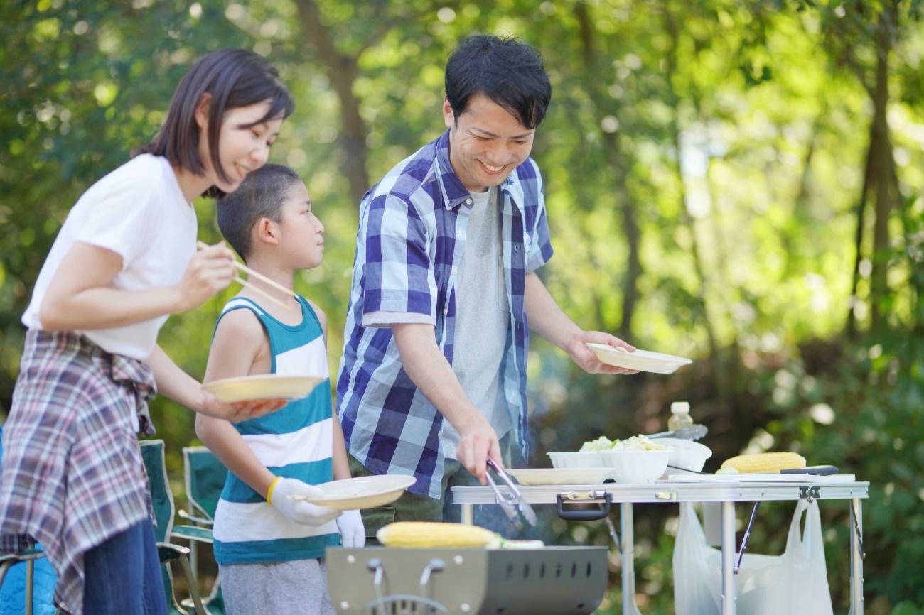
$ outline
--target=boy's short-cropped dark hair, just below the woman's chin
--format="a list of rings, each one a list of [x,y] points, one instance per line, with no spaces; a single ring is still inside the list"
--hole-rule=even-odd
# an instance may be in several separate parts
[[[251,171],[237,190],[218,199],[218,228],[241,259],[251,249],[253,225],[262,218],[281,222],[289,188],[301,182],[298,173],[282,164],[264,164]]]

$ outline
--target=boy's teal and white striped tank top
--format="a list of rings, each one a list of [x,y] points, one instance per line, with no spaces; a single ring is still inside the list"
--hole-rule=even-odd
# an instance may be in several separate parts
[[[272,373],[325,378],[309,397],[291,402],[273,414],[234,425],[250,450],[275,476],[317,485],[334,479],[331,385],[321,323],[308,301],[302,297],[298,301],[302,321],[295,326],[274,319],[246,297],[228,301],[222,316],[235,309],[249,309],[260,319],[270,340]],[[261,494],[228,472],[215,512],[213,546],[219,564],[321,558],[326,547],[339,544],[336,522],[319,527],[292,523]]]

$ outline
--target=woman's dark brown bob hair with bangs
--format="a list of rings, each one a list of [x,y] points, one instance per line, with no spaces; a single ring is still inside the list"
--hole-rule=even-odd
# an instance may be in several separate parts
[[[152,143],[137,153],[164,156],[170,163],[202,175],[205,165],[199,156],[199,127],[196,107],[204,94],[209,103],[209,157],[222,181],[228,181],[218,159],[218,137],[225,111],[251,104],[270,102],[266,115],[249,126],[282,116],[295,109],[292,94],[279,79],[279,73],[261,56],[246,49],[222,49],[202,57],[176,86],[164,126]],[[223,192],[211,187],[205,195],[220,197]]]

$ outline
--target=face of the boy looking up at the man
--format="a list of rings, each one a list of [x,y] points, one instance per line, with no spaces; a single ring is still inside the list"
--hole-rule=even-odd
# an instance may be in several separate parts
[[[324,259],[324,225],[314,215],[308,188],[302,182],[288,189],[279,227],[279,249],[294,269],[311,269]]]

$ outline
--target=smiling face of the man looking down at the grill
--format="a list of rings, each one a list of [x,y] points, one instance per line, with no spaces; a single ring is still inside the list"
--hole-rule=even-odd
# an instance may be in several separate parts
[[[469,192],[500,186],[532,150],[536,131],[484,94],[468,99],[458,116],[444,99],[443,117],[449,128],[449,162]]]

